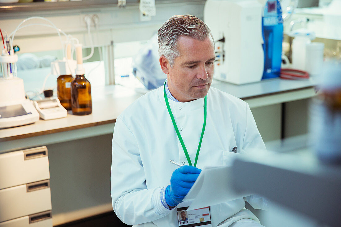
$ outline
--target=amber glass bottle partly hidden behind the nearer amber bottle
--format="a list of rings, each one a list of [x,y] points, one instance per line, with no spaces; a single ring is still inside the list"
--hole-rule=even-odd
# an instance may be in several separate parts
[[[57,78],[57,94],[60,104],[67,110],[71,109],[71,75],[60,75]]]

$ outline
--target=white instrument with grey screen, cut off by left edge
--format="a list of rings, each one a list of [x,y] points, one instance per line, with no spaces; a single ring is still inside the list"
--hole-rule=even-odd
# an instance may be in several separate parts
[[[0,55],[0,128],[31,124],[39,120],[39,113],[25,98],[24,81],[17,76],[18,56]]]

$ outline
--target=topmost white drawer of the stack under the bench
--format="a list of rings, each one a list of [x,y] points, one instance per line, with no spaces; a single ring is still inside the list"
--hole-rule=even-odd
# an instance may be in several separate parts
[[[46,147],[0,154],[0,189],[50,179]]]

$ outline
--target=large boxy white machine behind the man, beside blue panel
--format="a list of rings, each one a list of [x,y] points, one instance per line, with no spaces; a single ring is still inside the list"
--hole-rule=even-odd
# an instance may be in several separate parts
[[[261,81],[262,9],[257,0],[207,0],[204,22],[216,42],[214,78],[233,84]]]

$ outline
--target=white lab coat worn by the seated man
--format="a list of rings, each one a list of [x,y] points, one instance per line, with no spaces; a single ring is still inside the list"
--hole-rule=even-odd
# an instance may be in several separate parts
[[[169,100],[169,104],[194,163],[203,126],[204,99],[186,103]],[[178,226],[176,209],[167,210],[162,205],[160,191],[170,184],[178,168],[169,160],[186,165],[188,162],[166,108],[163,86],[140,97],[117,118],[112,146],[111,195],[120,220],[139,227]],[[197,167],[228,164],[232,156],[238,155],[231,152],[234,147],[238,153],[265,149],[248,104],[210,88]],[[261,197],[245,200],[254,208],[266,207]],[[244,206],[243,198],[211,206],[212,226],[229,226],[242,218],[259,222]]]

